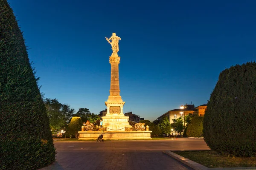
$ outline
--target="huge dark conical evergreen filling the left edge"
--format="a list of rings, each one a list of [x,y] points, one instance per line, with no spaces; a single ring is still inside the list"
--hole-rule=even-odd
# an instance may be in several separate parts
[[[0,0],[0,169],[37,169],[53,161],[38,78],[12,8]]]

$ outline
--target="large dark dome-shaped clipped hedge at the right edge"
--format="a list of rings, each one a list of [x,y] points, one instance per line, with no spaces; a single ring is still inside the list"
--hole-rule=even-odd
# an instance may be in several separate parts
[[[203,133],[212,150],[256,156],[255,62],[221,72],[207,104]]]

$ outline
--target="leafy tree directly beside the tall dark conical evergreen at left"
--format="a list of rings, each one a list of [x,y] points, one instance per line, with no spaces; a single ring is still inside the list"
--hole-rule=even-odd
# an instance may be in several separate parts
[[[45,99],[44,104],[52,130],[60,130],[70,122],[74,109],[70,109],[69,105],[61,104],[57,99]]]

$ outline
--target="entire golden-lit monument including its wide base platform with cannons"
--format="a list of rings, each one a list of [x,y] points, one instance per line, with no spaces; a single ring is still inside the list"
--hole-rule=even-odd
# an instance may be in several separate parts
[[[82,130],[79,131],[79,140],[97,139],[101,133],[105,133],[104,139],[151,139],[150,133],[152,131],[145,130],[144,125],[137,123],[134,127],[129,124],[129,116],[123,113],[123,106],[125,102],[122,101],[119,88],[119,69],[118,65],[120,57],[117,52],[119,51],[120,37],[113,33],[112,36],[106,40],[111,44],[113,53],[109,57],[111,64],[111,81],[110,81],[110,95],[105,102],[107,106],[106,116],[102,116],[103,128],[98,130],[94,129],[93,124],[84,124]]]

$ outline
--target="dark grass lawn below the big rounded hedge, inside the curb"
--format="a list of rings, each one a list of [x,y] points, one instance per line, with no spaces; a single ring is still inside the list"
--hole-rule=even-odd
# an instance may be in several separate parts
[[[209,168],[215,167],[256,167],[256,157],[230,157],[212,150],[172,151]]]

